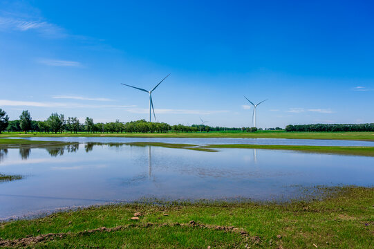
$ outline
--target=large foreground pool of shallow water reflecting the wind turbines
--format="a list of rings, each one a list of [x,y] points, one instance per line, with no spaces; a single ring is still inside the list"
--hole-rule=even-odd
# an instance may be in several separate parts
[[[25,178],[0,183],[0,219],[143,197],[290,199],[299,195],[295,185],[371,186],[373,165],[371,157],[265,149],[92,143],[1,149],[0,172]]]

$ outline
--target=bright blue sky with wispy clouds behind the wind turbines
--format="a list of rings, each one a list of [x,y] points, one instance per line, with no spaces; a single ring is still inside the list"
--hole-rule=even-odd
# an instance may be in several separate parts
[[[0,1],[0,108],[95,122],[374,122],[371,1]]]

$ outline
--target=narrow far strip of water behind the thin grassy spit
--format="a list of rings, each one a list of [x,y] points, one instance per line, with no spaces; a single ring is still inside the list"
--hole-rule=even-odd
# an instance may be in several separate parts
[[[0,138],[1,139],[1,138]],[[19,138],[14,138],[19,139]],[[165,142],[190,145],[310,145],[310,146],[368,146],[371,141],[321,140],[321,139],[286,139],[286,138],[108,138],[108,137],[37,137],[22,138],[41,141],[63,142]]]

